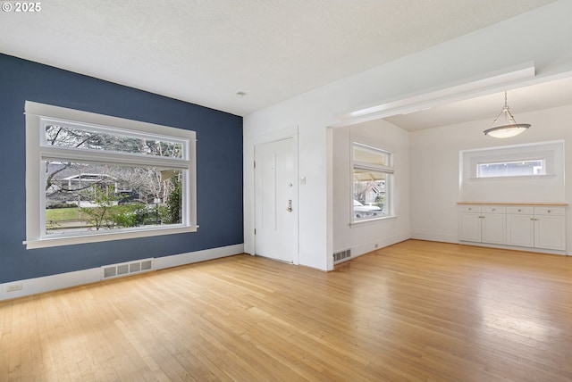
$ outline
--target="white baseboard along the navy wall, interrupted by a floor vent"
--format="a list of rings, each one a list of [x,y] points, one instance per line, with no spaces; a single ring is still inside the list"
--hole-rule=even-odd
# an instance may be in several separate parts
[[[233,254],[244,253],[244,245],[228,245],[203,251],[174,254],[172,256],[157,257],[154,260],[153,270],[176,267],[193,262],[218,259]],[[54,291],[71,286],[90,284],[101,280],[101,267],[75,272],[61,273],[58,275],[45,276],[42,278],[28,278],[0,284],[0,301],[10,300],[26,295],[38,295],[39,293]],[[8,292],[11,290],[10,292]]]

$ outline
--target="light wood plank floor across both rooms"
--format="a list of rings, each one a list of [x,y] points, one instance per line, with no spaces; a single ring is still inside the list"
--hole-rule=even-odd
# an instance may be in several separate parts
[[[409,240],[0,303],[0,381],[570,381],[572,259]]]

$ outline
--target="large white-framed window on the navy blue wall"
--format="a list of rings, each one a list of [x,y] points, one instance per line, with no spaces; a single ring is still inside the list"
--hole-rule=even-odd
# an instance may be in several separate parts
[[[195,133],[26,103],[28,248],[196,231]]]

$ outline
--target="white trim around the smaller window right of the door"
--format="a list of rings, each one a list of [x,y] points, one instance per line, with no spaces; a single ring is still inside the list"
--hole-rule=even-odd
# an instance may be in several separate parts
[[[389,159],[389,163],[387,166],[381,165],[381,164],[372,164],[369,162],[359,162],[359,161],[355,161],[354,160],[354,154],[353,154],[353,148],[355,145],[361,145],[363,147],[375,150],[375,151],[379,151],[379,152],[383,152],[388,155],[388,159]],[[383,221],[383,220],[392,220],[397,218],[397,216],[395,215],[394,211],[393,211],[393,190],[394,190],[394,167],[393,167],[393,152],[386,150],[382,147],[376,147],[373,145],[367,145],[364,144],[362,142],[359,142],[357,140],[352,140],[350,141],[350,148],[349,148],[349,161],[350,161],[350,166],[349,166],[349,177],[350,177],[350,183],[349,183],[349,187],[350,187],[350,192],[349,195],[351,196],[351,199],[349,201],[349,205],[350,205],[350,212],[349,212],[349,216],[351,216],[350,221],[349,221],[349,227],[353,227],[353,226],[361,226],[361,225],[366,225],[368,223],[373,223],[373,222],[379,222],[379,221]],[[383,216],[379,216],[379,217],[374,217],[374,218],[370,218],[370,219],[365,219],[365,220],[356,220],[355,214],[354,214],[354,207],[353,207],[353,202],[354,202],[354,169],[360,169],[360,170],[374,170],[374,171],[378,171],[378,172],[383,172],[386,174],[391,175],[391,181],[389,182],[389,187],[388,185],[386,185],[386,195],[388,195],[388,203],[387,203],[387,215],[383,215]]]

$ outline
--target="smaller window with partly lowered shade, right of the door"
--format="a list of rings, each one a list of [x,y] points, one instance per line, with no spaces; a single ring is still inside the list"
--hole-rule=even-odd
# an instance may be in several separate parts
[[[357,142],[352,145],[353,221],[391,215],[392,154]]]

